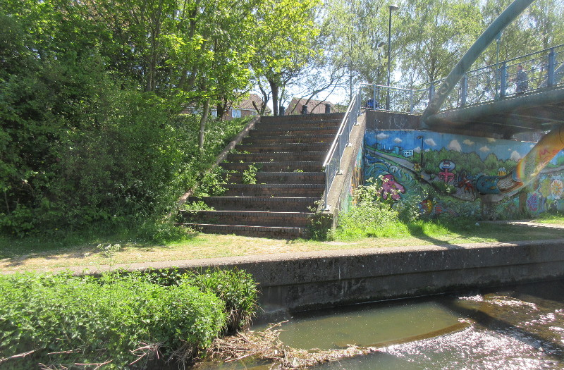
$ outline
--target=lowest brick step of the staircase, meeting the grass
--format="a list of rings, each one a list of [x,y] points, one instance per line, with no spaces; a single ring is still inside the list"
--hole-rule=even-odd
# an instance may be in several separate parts
[[[282,226],[239,226],[216,225],[206,223],[181,223],[181,226],[193,228],[201,233],[235,234],[256,238],[297,239],[307,237],[307,228],[286,228]]]

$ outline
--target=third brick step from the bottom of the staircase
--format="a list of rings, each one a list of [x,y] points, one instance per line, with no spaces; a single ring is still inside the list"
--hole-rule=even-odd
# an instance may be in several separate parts
[[[216,211],[309,212],[319,197],[188,197],[188,204],[204,202]]]

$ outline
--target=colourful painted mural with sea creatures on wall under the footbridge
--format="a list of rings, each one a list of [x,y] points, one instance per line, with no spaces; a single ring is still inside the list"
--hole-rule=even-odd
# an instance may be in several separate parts
[[[516,218],[564,210],[564,152],[529,185],[489,203],[484,214],[476,187],[495,185],[484,183],[484,175],[510,173],[534,143],[418,130],[367,130],[364,145],[365,182],[378,179],[383,199],[415,203],[425,216]],[[482,183],[477,184],[477,179]]]

